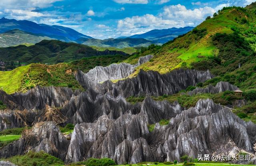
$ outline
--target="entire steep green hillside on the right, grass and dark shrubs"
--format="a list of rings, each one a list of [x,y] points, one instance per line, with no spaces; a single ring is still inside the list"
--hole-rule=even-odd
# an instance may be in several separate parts
[[[254,20],[255,3],[246,8],[224,8],[184,36],[140,54],[154,54],[154,59],[138,67],[137,72],[143,69],[166,73],[175,68],[195,68],[210,69],[220,75],[238,70],[239,63],[246,68],[255,56]]]

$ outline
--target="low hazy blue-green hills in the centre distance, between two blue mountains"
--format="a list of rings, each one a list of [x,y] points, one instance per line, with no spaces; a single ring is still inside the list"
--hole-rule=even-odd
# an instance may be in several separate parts
[[[147,47],[150,44],[158,44],[157,42],[146,40],[143,38],[109,38],[109,39],[86,39],[82,44],[88,46],[98,47],[115,47],[115,48],[126,48],[126,47]]]

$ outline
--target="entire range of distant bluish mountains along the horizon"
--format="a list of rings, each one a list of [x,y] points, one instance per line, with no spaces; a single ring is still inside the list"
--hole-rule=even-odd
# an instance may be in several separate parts
[[[129,37],[94,39],[63,26],[36,24],[28,20],[0,19],[0,47],[31,45],[42,40],[60,40],[97,47],[147,47],[150,44],[161,45],[179,35],[192,30],[193,27],[151,30],[144,34]]]

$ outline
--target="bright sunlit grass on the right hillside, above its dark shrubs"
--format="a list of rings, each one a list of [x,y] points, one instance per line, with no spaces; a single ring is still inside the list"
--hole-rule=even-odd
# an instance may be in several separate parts
[[[248,13],[250,17],[246,16]],[[248,23],[242,24],[241,20],[243,18],[246,18]],[[236,9],[223,10],[218,16],[205,20],[197,26],[196,28],[199,32],[188,32],[184,36],[176,38],[173,42],[170,41],[164,44],[161,48],[154,48],[141,54],[154,54],[154,61],[138,67],[137,72],[132,76],[136,75],[139,69],[156,70],[160,73],[166,73],[175,68],[191,68],[192,62],[199,62],[207,60],[208,57],[218,56],[220,48],[214,44],[212,37],[216,33],[232,34],[234,31],[231,28],[234,26],[242,32],[240,34],[242,38],[254,40],[253,37],[250,37],[250,34],[253,34],[253,32],[246,32],[246,30],[255,27],[254,20],[256,20],[255,13],[250,10],[246,12]],[[204,29],[206,31],[202,32]],[[251,46],[255,47],[255,43],[252,43]],[[138,60],[138,57],[134,58],[133,61],[136,60]]]

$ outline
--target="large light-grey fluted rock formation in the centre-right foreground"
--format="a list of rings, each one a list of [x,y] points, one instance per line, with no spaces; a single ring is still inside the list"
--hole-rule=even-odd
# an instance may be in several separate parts
[[[212,100],[199,100],[194,108],[182,112],[177,109],[176,115],[171,112],[166,116],[170,124],[157,123],[153,132],[148,131],[147,124],[160,113],[148,108],[116,120],[103,115],[94,123],[77,124],[66,161],[108,157],[121,164],[180,160],[185,154],[196,158],[197,154],[255,152],[256,125],[242,121]]]

